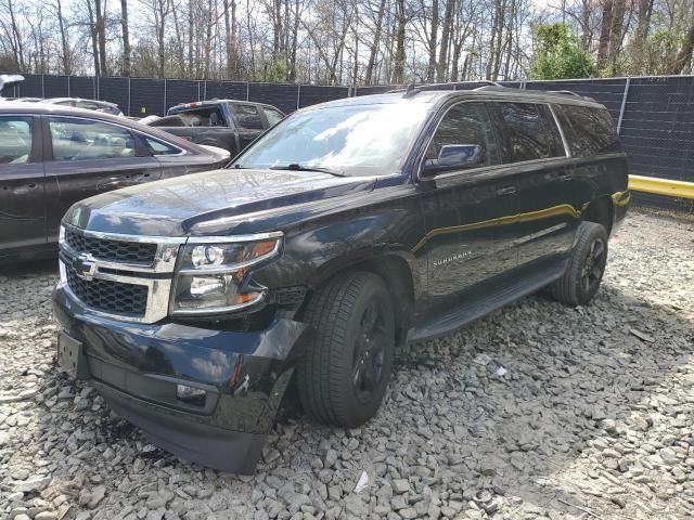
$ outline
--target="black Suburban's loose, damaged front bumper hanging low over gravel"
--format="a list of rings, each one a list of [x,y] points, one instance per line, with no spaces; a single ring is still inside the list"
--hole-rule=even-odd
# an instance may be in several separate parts
[[[307,334],[275,317],[257,332],[137,324],[90,313],[59,285],[53,312],[81,343],[83,368],[104,399],[153,444],[181,458],[253,472]],[[178,385],[204,398],[179,399]]]

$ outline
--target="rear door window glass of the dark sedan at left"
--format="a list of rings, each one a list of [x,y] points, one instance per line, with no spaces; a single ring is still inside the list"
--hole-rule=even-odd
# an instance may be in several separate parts
[[[132,134],[125,128],[89,119],[54,117],[49,120],[54,160],[134,157]]]

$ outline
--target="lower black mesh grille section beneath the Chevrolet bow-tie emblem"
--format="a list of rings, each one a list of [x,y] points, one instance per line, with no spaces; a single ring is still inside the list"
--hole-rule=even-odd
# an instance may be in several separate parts
[[[75,269],[66,264],[67,286],[85,304],[101,312],[142,317],[147,306],[147,286],[110,280],[80,278]]]

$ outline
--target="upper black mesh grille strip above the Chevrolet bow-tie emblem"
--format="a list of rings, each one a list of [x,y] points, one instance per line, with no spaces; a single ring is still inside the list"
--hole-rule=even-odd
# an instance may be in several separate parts
[[[65,243],[78,252],[108,262],[151,265],[156,257],[156,244],[97,238],[74,229],[65,230]]]

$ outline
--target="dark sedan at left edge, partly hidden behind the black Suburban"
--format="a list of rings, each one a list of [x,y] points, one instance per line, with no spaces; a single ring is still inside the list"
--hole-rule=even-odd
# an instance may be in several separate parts
[[[77,200],[227,162],[224,151],[124,118],[0,102],[0,262],[55,255],[61,218]]]

